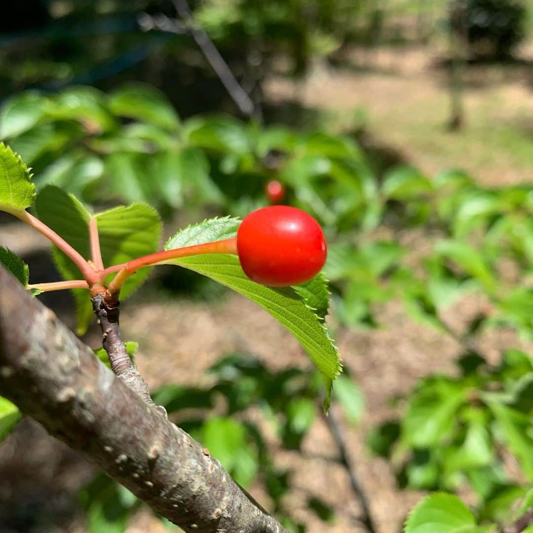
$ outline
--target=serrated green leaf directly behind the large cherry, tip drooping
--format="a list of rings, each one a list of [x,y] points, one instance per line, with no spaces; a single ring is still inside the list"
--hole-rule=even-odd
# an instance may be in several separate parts
[[[176,233],[167,241],[165,250],[233,238],[238,225],[238,219],[229,217],[206,220]],[[341,363],[327,329],[321,324],[320,317],[310,309],[313,303],[322,301],[319,296],[324,293],[322,289],[317,290],[313,283],[309,283],[305,289],[259,285],[246,276],[238,257],[230,254],[197,255],[169,260],[167,263],[204,274],[243,294],[284,325],[300,342],[322,374],[326,385],[325,406],[329,405],[330,389],[333,379],[341,370]],[[320,306],[324,308],[324,305]]]

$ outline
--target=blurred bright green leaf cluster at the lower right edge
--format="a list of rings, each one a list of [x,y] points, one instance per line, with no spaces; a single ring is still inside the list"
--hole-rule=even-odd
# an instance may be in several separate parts
[[[523,481],[533,483],[533,358],[508,350],[491,366],[469,352],[458,364],[459,377],[423,378],[405,415],[372,430],[368,444],[395,465],[400,487],[468,488],[480,520],[505,522],[527,491]],[[518,478],[510,460],[521,467]]]

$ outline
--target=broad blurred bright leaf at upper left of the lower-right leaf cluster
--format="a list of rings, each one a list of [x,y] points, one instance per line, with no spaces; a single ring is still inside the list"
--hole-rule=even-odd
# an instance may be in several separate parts
[[[465,387],[451,379],[426,378],[409,398],[402,440],[415,448],[437,446],[452,430],[465,394]]]

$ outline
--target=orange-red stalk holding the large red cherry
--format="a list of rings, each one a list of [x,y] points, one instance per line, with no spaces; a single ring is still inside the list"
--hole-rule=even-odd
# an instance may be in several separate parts
[[[182,248],[175,248],[173,250],[166,250],[164,252],[156,252],[155,254],[145,255],[133,261],[128,261],[119,270],[120,265],[115,265],[110,269],[106,269],[100,273],[105,277],[108,273],[119,270],[115,278],[109,284],[106,293],[106,300],[112,300],[120,292],[124,282],[137,270],[143,266],[151,266],[157,264],[164,264],[172,259],[179,257],[190,257],[192,255],[204,254],[234,254],[237,255],[237,239],[218,240],[214,243],[196,244],[193,246],[184,246]]]

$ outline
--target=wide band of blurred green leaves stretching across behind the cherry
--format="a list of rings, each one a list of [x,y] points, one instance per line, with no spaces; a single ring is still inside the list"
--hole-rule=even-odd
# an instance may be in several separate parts
[[[440,312],[476,291],[491,309],[473,328],[533,332],[531,185],[487,189],[461,172],[430,179],[408,167],[378,179],[349,136],[224,116],[180,122],[163,95],[142,85],[109,96],[87,87],[21,94],[3,107],[0,136],[34,167],[38,189],[54,183],[96,205],[142,201],[163,214],[197,205],[244,215],[266,204],[264,185],[275,177],[287,203],[325,228],[326,273],[346,325],[375,326],[376,306],[401,298],[416,319],[446,330]],[[400,243],[417,228],[424,249],[413,264],[413,245]],[[505,262],[516,273],[504,284]]]

